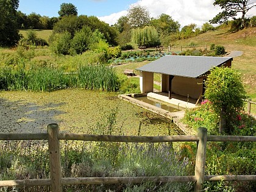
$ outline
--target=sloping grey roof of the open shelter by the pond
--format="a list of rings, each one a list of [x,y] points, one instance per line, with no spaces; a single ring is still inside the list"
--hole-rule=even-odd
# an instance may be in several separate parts
[[[232,57],[165,55],[154,62],[141,66],[137,70],[196,78],[207,73],[213,67],[226,63],[228,60],[233,59]]]

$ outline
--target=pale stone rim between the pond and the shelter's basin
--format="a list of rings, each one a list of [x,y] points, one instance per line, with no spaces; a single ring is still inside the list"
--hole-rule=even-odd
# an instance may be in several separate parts
[[[151,112],[157,113],[158,115],[161,115],[167,119],[171,119],[171,121],[176,124],[177,127],[179,127],[180,130],[185,135],[196,135],[196,132],[194,130],[188,129],[186,124],[183,124],[180,119],[183,118],[185,111],[180,110],[179,112],[168,112],[167,110],[164,110],[163,108],[156,107],[151,104],[147,104],[146,102],[139,101],[138,98],[140,96],[146,96],[146,94],[119,94],[118,98],[123,99],[124,101],[128,101],[132,104],[138,105],[139,107],[143,107],[146,110],[149,110]]]

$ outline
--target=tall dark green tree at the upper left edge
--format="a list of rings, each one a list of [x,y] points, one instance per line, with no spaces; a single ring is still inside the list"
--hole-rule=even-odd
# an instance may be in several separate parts
[[[19,0],[0,0],[0,46],[13,46],[20,40],[18,7]]]

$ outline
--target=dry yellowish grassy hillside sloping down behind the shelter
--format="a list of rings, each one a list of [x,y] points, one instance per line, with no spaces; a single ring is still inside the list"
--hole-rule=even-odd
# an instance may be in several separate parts
[[[240,30],[238,32],[228,32],[228,29],[220,29],[205,34],[200,34],[187,40],[172,42],[174,46],[188,46],[194,43],[210,49],[211,44],[223,45],[227,53],[231,51],[243,51],[243,55],[233,58],[232,68],[237,69],[243,77],[243,83],[247,94],[252,101],[256,101],[256,28]],[[185,50],[184,50],[185,51]],[[140,64],[133,64],[132,67],[138,68]],[[117,68],[124,69],[123,66]],[[128,68],[126,66],[125,68]],[[256,114],[256,105],[252,105],[252,113]]]

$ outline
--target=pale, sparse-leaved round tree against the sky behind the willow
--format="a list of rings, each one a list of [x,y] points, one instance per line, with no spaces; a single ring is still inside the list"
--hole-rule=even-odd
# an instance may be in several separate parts
[[[147,26],[150,22],[148,9],[141,5],[130,7],[130,9],[128,9],[127,18],[130,26],[134,28]]]

